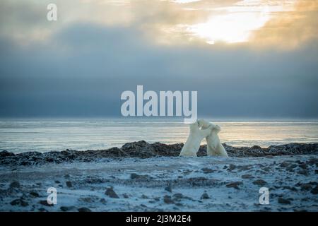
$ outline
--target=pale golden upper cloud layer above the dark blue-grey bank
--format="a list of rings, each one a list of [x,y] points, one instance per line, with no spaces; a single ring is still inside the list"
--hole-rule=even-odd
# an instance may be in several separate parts
[[[182,2],[182,4],[180,4]],[[46,20],[47,4],[58,21]],[[160,45],[246,42],[290,49],[317,40],[318,1],[43,0],[1,3],[0,36],[20,45],[49,42],[72,23],[132,27]]]

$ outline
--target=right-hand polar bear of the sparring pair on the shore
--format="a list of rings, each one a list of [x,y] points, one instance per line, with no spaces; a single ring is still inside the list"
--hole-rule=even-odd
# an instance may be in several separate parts
[[[206,153],[212,156],[223,156],[228,157],[228,153],[226,153],[225,148],[223,147],[222,143],[220,143],[220,138],[218,138],[218,132],[220,132],[220,126],[211,124],[204,119],[199,119],[199,126],[202,129],[211,128],[211,133],[206,136]]]

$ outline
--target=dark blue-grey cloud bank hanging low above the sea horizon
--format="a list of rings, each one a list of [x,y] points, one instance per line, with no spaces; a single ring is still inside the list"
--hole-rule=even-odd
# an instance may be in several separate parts
[[[198,90],[212,117],[317,117],[317,48],[158,47],[135,28],[74,23],[50,44],[1,40],[1,116],[119,116],[120,94]]]

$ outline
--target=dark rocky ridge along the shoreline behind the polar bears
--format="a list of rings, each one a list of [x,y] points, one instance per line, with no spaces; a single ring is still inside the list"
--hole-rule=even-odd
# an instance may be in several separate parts
[[[0,152],[0,165],[42,165],[49,162],[93,162],[100,158],[122,157],[175,157],[179,155],[183,143],[167,145],[165,143],[147,143],[137,141],[126,143],[122,148],[109,148],[106,150],[63,150],[47,153],[27,152],[10,153],[6,150]],[[288,143],[285,145],[271,145],[261,148],[257,145],[252,147],[233,147],[223,144],[230,157],[273,157],[276,155],[317,155],[318,143]],[[206,155],[206,145],[201,145],[198,156]]]

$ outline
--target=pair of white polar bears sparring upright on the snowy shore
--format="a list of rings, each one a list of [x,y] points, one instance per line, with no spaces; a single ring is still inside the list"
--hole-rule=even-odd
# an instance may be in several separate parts
[[[220,126],[211,124],[204,119],[190,124],[190,133],[179,156],[196,156],[201,141],[206,138],[206,152],[208,155],[228,157],[225,148],[218,138]]]

